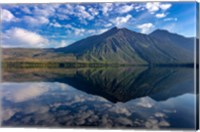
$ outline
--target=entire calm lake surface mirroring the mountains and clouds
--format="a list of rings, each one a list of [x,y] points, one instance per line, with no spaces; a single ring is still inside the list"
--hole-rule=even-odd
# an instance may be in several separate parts
[[[3,73],[3,127],[194,129],[192,68],[26,69]]]

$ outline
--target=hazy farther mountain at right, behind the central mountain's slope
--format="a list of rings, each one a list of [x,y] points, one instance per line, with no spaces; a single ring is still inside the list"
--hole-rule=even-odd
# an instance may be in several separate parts
[[[170,44],[175,44],[177,46],[183,47],[184,49],[188,49],[190,51],[194,51],[194,42],[195,38],[186,38],[176,33],[170,33],[166,30],[157,29],[149,34],[152,37],[157,39],[164,40]]]

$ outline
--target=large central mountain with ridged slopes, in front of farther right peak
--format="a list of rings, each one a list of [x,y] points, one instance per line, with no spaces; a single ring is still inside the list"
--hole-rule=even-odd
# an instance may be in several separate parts
[[[193,59],[193,54],[181,44],[116,27],[56,51],[94,62],[162,64],[191,62]]]

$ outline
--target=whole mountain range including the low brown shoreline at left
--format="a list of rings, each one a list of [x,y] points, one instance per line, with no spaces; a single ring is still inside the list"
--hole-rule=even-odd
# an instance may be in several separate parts
[[[157,32],[146,35],[114,27],[105,33],[82,39],[64,48],[5,49],[3,55],[5,60],[39,59],[120,64],[193,63],[192,49],[186,48],[185,44],[178,41],[185,37],[163,31],[168,35],[166,39],[160,39],[165,38],[164,33],[159,37]],[[193,43],[190,45],[194,46]]]

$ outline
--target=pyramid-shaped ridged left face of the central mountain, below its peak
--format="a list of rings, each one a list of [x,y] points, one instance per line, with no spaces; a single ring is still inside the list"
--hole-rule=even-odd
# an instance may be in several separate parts
[[[56,49],[56,52],[74,54],[78,60],[90,62],[146,64],[129,44],[123,32],[123,29],[114,27],[101,35]]]

